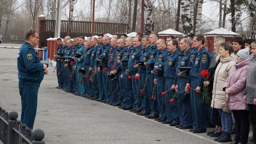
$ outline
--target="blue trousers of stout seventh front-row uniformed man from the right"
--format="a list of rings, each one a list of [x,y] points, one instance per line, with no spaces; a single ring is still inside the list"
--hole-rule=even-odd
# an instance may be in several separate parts
[[[132,74],[132,77],[135,76],[135,74]],[[133,92],[133,98],[134,98],[134,108],[142,111],[142,103],[140,99],[140,85],[139,85],[139,79],[135,79],[134,77],[132,79],[132,92]]]

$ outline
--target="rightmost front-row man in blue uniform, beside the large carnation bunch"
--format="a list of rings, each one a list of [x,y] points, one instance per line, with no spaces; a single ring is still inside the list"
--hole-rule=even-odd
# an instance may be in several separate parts
[[[202,102],[202,92],[204,79],[200,76],[202,70],[207,70],[210,63],[209,52],[204,47],[204,36],[196,35],[194,36],[194,44],[196,45],[197,52],[194,54],[194,59],[191,64],[191,70],[189,76],[191,79],[190,88],[196,91],[190,91],[191,95],[191,109],[193,121],[196,120],[196,129],[192,131],[193,133],[206,132],[206,114],[212,116],[212,110],[210,103]],[[186,86],[187,87],[187,86]]]

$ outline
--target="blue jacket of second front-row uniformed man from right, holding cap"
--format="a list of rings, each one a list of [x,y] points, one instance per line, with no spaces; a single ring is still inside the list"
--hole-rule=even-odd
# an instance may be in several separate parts
[[[179,55],[180,53],[178,53]],[[178,56],[178,66],[177,67],[188,67],[194,58],[194,51],[189,48],[187,52],[182,53]],[[178,76],[179,70],[178,68],[176,69],[176,75],[179,79],[179,81],[187,81],[187,83],[190,83],[190,79],[188,75],[183,75],[183,76]]]

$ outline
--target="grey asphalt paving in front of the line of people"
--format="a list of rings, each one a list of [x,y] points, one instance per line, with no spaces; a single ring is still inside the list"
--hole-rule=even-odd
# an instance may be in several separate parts
[[[9,46],[10,44],[0,44]],[[12,44],[10,46],[19,46]],[[0,48],[0,102],[6,111],[21,114],[18,88],[19,49]],[[38,92],[34,129],[44,131],[45,143],[196,143],[212,144],[206,133],[194,134],[138,116],[135,113],[55,89],[56,72],[50,65]],[[208,128],[211,131],[212,128]],[[234,139],[234,135],[232,135]]]

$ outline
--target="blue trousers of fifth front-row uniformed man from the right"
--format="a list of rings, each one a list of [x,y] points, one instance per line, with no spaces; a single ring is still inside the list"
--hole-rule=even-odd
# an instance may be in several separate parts
[[[151,99],[152,97],[152,89],[154,87],[154,79],[155,79],[155,75],[154,74],[147,74],[147,92],[148,92],[148,101],[149,101],[149,106],[151,109],[151,114],[153,115],[158,115],[159,114],[159,108],[158,108],[158,104],[157,104],[157,100],[153,100]]]

